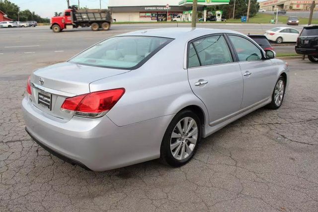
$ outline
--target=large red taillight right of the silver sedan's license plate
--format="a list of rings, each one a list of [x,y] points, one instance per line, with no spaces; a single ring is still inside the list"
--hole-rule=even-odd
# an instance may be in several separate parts
[[[101,117],[120,100],[124,93],[125,89],[119,88],[67,98],[61,106],[61,111],[81,117]]]

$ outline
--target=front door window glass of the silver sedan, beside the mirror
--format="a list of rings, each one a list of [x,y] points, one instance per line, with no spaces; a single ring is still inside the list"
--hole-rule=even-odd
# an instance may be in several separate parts
[[[236,35],[229,35],[238,54],[239,61],[260,60],[262,53],[251,41]]]

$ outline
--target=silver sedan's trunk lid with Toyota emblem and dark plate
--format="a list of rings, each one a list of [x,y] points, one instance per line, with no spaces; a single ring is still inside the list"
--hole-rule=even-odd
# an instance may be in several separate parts
[[[90,92],[90,83],[128,71],[69,62],[52,65],[36,70],[31,75],[30,99],[32,104],[42,111],[69,120],[73,115],[61,111],[66,98],[87,94]]]

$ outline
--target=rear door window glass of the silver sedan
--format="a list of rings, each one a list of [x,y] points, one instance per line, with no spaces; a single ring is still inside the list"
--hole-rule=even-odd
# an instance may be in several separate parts
[[[223,35],[214,35],[193,41],[201,66],[233,62],[228,44]]]

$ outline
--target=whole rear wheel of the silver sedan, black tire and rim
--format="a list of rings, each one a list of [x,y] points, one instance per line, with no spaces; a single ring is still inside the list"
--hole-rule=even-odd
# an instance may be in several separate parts
[[[195,154],[200,140],[201,121],[198,115],[189,109],[178,112],[164,133],[160,147],[161,162],[173,167],[186,164]]]

